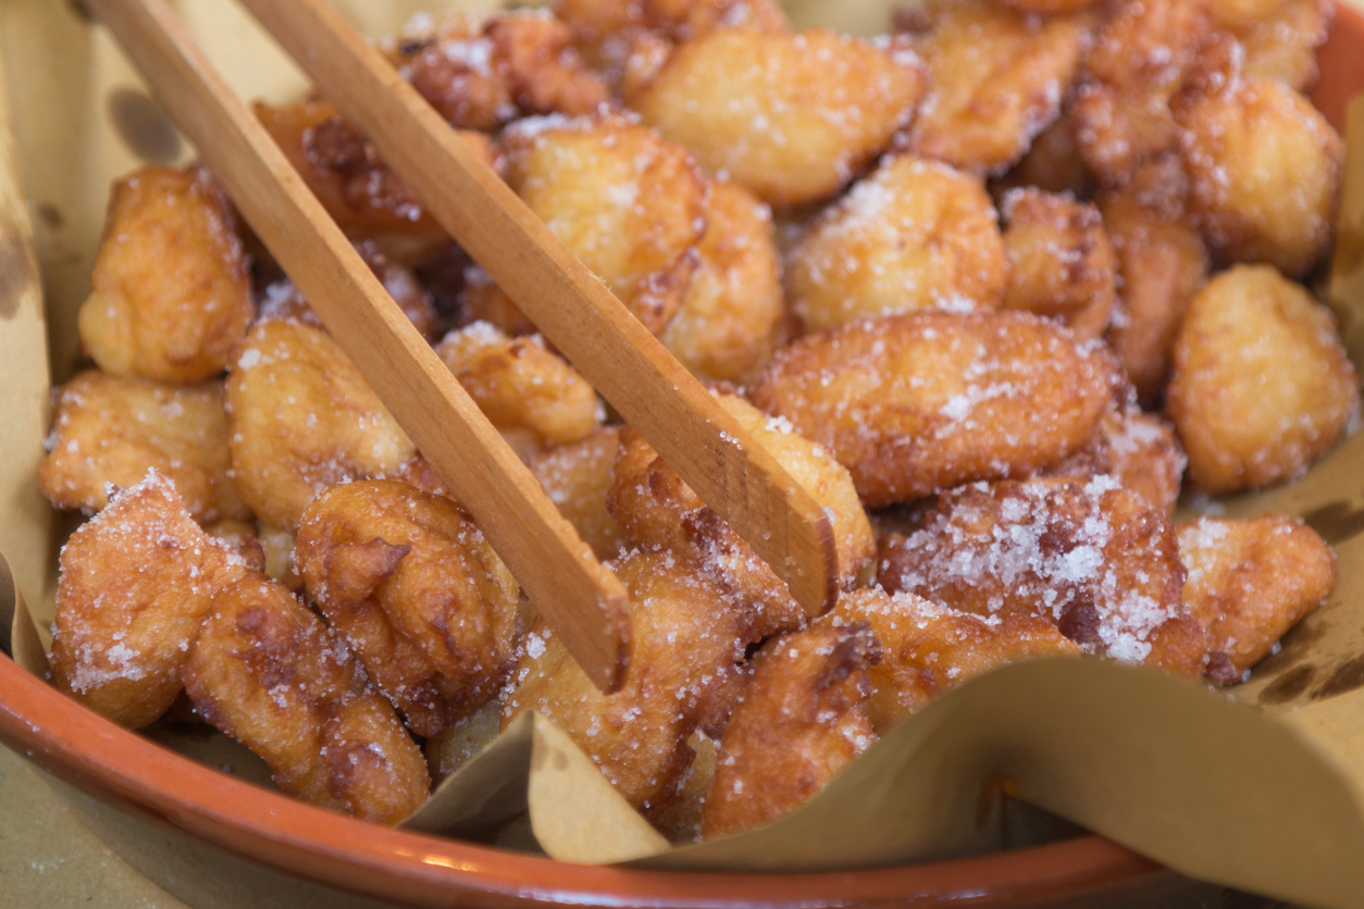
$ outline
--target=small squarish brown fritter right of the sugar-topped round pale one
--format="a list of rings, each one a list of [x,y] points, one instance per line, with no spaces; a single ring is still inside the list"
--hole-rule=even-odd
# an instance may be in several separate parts
[[[1012,189],[1000,213],[1009,259],[1004,308],[1056,319],[1080,339],[1103,334],[1117,301],[1117,258],[1098,209],[1069,195]]]

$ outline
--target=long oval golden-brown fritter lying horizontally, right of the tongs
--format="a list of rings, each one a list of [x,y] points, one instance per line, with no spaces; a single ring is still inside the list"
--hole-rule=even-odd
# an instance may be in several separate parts
[[[876,508],[1061,461],[1093,440],[1116,383],[1106,352],[1038,316],[915,312],[797,341],[750,398]]]

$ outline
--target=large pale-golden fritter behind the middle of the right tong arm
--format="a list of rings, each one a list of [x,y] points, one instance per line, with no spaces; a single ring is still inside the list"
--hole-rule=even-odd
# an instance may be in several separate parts
[[[697,267],[705,177],[682,146],[622,116],[532,117],[502,134],[507,184],[649,328],[662,331]],[[516,307],[487,279],[461,303],[509,334]]]

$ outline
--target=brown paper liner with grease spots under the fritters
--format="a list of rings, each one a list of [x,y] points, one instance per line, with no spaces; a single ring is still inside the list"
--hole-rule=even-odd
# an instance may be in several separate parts
[[[288,99],[297,71],[236,4],[176,4],[247,97]],[[337,5],[372,34],[424,0]],[[797,4],[798,25],[874,31],[887,3]],[[0,617],[14,656],[48,671],[59,526],[33,485],[46,432],[46,378],[78,363],[75,312],[108,185],[143,161],[190,150],[145,97],[106,34],[75,3],[0,4],[0,60],[16,154],[0,140]],[[0,114],[4,114],[0,91]],[[0,116],[0,124],[7,119]],[[1330,290],[1346,345],[1364,363],[1364,108],[1352,136]],[[1357,124],[1357,125],[1356,125]],[[23,192],[15,180],[15,164]],[[29,200],[33,224],[20,203]],[[31,232],[31,236],[30,236]],[[30,245],[30,240],[34,243]],[[37,249],[46,298],[35,285]],[[50,345],[50,346],[48,346]],[[439,786],[408,826],[516,844],[529,826],[548,854],[668,868],[851,868],[997,848],[1001,793],[1124,842],[1188,875],[1307,905],[1364,904],[1364,435],[1297,482],[1225,503],[1230,515],[1303,515],[1335,548],[1330,602],[1226,692],[1097,660],[1007,666],[934,700],[891,730],[791,816],[670,849],[542,717],[527,714]],[[25,606],[29,604],[30,609]],[[5,623],[10,624],[10,623]],[[1239,703],[1237,703],[1239,702]],[[1255,709],[1247,709],[1255,707]],[[258,759],[203,728],[149,732],[195,759],[263,781]]]

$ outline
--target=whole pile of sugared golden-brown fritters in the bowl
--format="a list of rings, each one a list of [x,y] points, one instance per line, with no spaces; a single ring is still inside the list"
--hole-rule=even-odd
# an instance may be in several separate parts
[[[670,837],[803,803],[1001,664],[1240,680],[1334,583],[1284,517],[1359,376],[1296,279],[1341,139],[1326,0],[929,0],[874,41],[771,0],[415,19],[398,72],[829,514],[809,619],[322,99],[258,106],[629,590],[600,694],[201,169],[113,191],[38,482],[57,684],[181,698],[281,789],[397,822],[539,710]],[[1187,476],[1185,476],[1187,467]],[[176,710],[176,715],[190,715]]]

